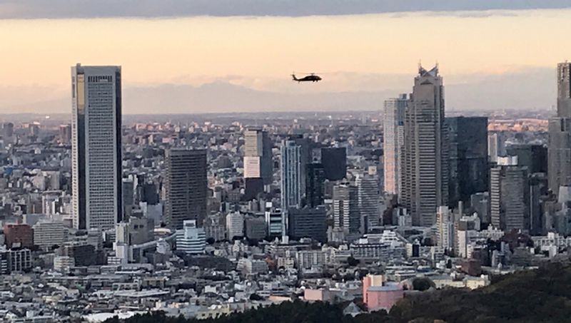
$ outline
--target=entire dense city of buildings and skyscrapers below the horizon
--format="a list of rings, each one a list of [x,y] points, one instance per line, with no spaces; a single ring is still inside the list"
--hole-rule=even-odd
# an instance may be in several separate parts
[[[378,111],[136,116],[78,63],[71,116],[1,117],[0,318],[355,317],[568,259],[570,72],[555,116],[447,113],[438,64]]]

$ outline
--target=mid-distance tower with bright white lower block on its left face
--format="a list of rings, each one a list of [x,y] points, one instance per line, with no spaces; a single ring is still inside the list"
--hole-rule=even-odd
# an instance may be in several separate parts
[[[261,128],[244,131],[244,178],[262,178],[264,185],[272,183],[272,143]]]

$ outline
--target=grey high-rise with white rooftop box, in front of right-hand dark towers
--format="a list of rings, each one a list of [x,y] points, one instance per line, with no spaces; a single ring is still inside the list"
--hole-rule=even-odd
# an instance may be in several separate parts
[[[497,158],[490,170],[490,218],[501,230],[529,230],[530,185],[527,168],[517,165],[517,157]]]

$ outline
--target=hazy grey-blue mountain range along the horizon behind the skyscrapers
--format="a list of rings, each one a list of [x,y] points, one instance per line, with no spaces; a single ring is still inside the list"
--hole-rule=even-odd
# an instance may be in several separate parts
[[[548,110],[555,104],[555,70],[530,68],[513,73],[492,75],[443,75],[447,111],[504,109]],[[188,84],[159,84],[157,86],[123,85],[123,113],[224,113],[271,111],[375,111],[383,109],[386,98],[412,91],[413,77],[395,78],[394,86],[379,83],[379,91],[370,91],[375,81],[367,84],[367,91],[359,91],[358,84],[349,83],[350,91],[263,91],[236,85],[228,81],[214,81],[201,86]],[[410,80],[410,81],[408,81]],[[323,82],[327,82],[324,78]],[[390,81],[390,80],[389,80]],[[393,84],[393,83],[390,83]],[[297,85],[297,84],[296,84]],[[301,84],[300,86],[313,86]],[[357,88],[357,89],[355,89]],[[310,88],[313,90],[313,88]],[[46,93],[42,88],[33,98],[33,88],[26,88],[17,96],[18,102],[2,101],[1,97],[15,96],[17,90],[0,88],[0,113],[68,113],[71,102],[51,95],[51,100],[40,101]],[[61,92],[61,91],[60,91]],[[17,93],[16,93],[17,94]],[[49,94],[49,93],[48,93]],[[47,94],[46,94],[47,96]],[[35,101],[38,100],[38,101]]]

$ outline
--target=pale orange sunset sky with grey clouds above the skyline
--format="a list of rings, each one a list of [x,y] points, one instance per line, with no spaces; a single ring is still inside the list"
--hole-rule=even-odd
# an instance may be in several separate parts
[[[438,62],[448,110],[547,110],[567,3],[4,0],[0,113],[70,112],[80,62],[122,66],[123,113],[380,110],[419,62]]]

